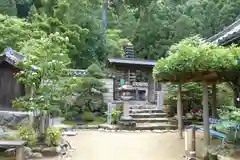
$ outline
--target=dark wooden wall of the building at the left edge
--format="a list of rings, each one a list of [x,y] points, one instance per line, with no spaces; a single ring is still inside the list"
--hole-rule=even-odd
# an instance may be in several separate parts
[[[2,62],[0,64],[0,109],[11,109],[12,100],[25,94],[24,86],[17,83],[15,74],[20,70]]]

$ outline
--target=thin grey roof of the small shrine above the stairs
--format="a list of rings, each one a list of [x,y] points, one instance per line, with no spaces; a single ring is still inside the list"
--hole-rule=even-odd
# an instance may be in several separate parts
[[[133,64],[133,65],[147,65],[154,66],[154,60],[139,60],[139,59],[123,59],[123,58],[108,58],[109,63]]]

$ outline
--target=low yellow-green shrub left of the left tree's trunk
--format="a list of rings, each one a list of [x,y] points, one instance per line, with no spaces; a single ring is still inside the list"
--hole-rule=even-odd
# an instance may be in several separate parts
[[[27,141],[31,144],[36,143],[37,134],[31,125],[19,126],[17,131],[21,140]]]

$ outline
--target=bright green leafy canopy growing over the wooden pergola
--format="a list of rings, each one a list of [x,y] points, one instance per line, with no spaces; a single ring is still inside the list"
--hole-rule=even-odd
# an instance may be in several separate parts
[[[239,47],[224,48],[202,41],[198,37],[191,37],[173,45],[169,49],[169,56],[158,60],[153,69],[154,78],[180,80],[183,74],[237,68]]]

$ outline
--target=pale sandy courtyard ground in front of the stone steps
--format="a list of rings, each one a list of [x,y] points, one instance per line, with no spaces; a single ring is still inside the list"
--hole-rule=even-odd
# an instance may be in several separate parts
[[[68,140],[76,149],[71,160],[183,160],[184,155],[177,133],[80,131]]]

